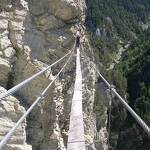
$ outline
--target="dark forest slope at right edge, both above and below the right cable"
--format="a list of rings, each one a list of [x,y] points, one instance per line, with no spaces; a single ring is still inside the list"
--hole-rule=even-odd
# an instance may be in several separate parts
[[[129,104],[150,126],[150,30],[133,41],[122,63],[116,68],[127,78]],[[150,140],[128,114],[120,133],[117,150],[149,150]],[[135,145],[133,145],[134,143]]]

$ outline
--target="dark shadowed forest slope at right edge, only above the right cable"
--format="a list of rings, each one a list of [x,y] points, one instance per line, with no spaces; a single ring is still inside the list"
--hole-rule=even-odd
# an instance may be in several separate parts
[[[127,78],[130,105],[150,125],[150,30],[131,44],[118,69]]]

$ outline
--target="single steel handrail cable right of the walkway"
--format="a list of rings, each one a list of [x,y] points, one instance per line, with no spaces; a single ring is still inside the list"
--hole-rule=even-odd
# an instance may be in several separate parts
[[[96,72],[99,74],[101,79],[106,83],[106,85],[111,89],[112,93],[114,93],[117,98],[121,101],[123,106],[130,112],[130,114],[134,117],[134,119],[139,123],[139,125],[145,130],[145,132],[150,136],[150,128],[149,126],[142,120],[142,118],[137,115],[137,113],[128,105],[128,103],[118,94],[116,89],[109,84],[109,82],[102,76],[102,74],[98,71],[97,68],[92,64],[92,67],[96,70]]]

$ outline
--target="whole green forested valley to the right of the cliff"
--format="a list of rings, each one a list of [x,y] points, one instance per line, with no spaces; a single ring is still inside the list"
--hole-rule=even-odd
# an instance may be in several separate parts
[[[149,0],[86,0],[86,25],[101,72],[131,107],[150,126],[150,29],[141,24],[150,22]],[[96,30],[99,29],[99,34]],[[131,43],[120,64],[106,68],[114,61],[117,49]],[[95,112],[103,107],[96,96]],[[150,139],[133,117],[120,104],[114,105],[111,116],[111,150],[150,150]]]

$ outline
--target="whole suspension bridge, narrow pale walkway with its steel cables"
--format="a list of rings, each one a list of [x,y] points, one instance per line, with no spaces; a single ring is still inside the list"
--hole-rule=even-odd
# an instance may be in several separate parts
[[[64,55],[61,59],[57,60],[47,68],[42,71],[34,74],[28,79],[22,81],[20,84],[14,86],[7,92],[0,94],[0,101],[5,100],[7,96],[10,96],[16,93],[21,88],[27,86],[28,83],[32,82],[38,76],[44,74],[51,67],[56,64],[62,62],[64,59],[68,57],[64,66],[55,76],[55,78],[49,83],[49,85],[43,90],[43,92],[37,97],[37,99],[33,102],[33,104],[29,107],[29,109],[22,115],[22,117],[16,122],[16,125],[3,137],[0,141],[0,150],[5,146],[5,144],[9,141],[11,136],[15,133],[16,129],[21,125],[21,123],[26,119],[26,117],[31,113],[31,111],[37,106],[37,104],[44,100],[44,97],[52,84],[58,79],[61,72],[65,70],[66,66],[69,64],[72,56],[76,55],[76,77],[75,77],[75,85],[74,85],[74,94],[72,98],[71,105],[71,113],[70,113],[70,125],[69,125],[69,133],[68,133],[68,142],[67,142],[67,150],[85,150],[85,138],[84,138],[84,121],[83,121],[83,110],[82,110],[82,68],[80,62],[80,37],[77,35],[75,46],[71,51],[69,51],[66,55]],[[149,126],[142,120],[142,118],[127,104],[127,102],[118,94],[116,89],[109,84],[109,82],[103,77],[103,75],[98,71],[98,69],[91,64],[91,66],[98,73],[103,82],[107,85],[108,89],[110,89],[110,93],[114,94],[122,103],[122,105],[126,108],[127,111],[134,117],[134,119],[138,122],[138,124],[144,129],[144,131],[150,136],[150,128]]]

